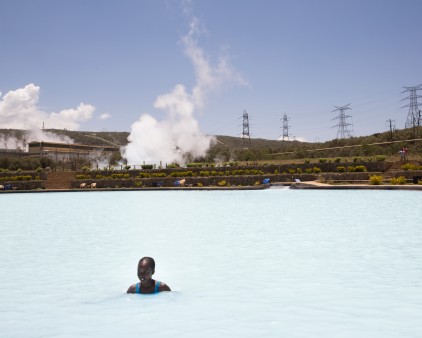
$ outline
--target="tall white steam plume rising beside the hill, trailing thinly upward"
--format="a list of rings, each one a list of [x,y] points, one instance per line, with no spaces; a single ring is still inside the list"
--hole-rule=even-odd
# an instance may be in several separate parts
[[[199,21],[193,18],[189,33],[182,38],[185,53],[195,69],[196,85],[189,93],[185,86],[178,84],[170,93],[157,97],[154,107],[167,112],[164,120],[143,114],[132,124],[129,144],[122,151],[129,164],[160,160],[180,163],[187,153],[193,157],[204,156],[214,137],[201,132],[195,111],[202,110],[206,96],[223,84],[244,83],[227,59],[221,58],[216,67],[210,65],[195,38],[198,26]]]

